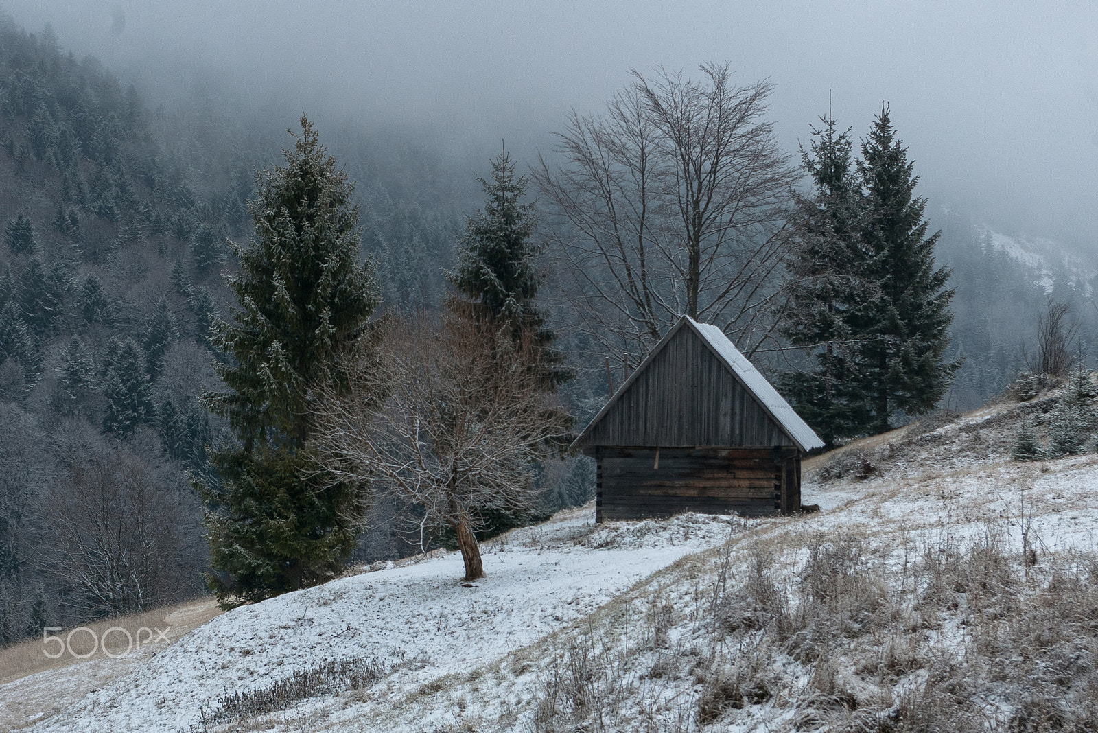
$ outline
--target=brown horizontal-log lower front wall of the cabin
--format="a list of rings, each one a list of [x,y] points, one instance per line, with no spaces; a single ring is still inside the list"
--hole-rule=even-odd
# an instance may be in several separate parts
[[[595,521],[683,511],[766,516],[800,509],[800,454],[792,448],[602,448]]]

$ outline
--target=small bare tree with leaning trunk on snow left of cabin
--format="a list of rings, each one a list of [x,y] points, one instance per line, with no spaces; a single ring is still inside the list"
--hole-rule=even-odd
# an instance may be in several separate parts
[[[568,429],[536,371],[506,334],[448,314],[397,324],[378,360],[351,373],[350,394],[323,395],[316,440],[336,481],[424,511],[457,535],[466,579],[484,574],[473,532],[492,511],[527,511],[533,464]]]

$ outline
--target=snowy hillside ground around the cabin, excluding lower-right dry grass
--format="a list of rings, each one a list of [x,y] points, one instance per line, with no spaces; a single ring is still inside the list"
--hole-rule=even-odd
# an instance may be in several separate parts
[[[859,537],[888,562],[904,542],[943,532],[977,537],[994,525],[1010,544],[1027,528],[1045,553],[1096,550],[1098,456],[1010,461],[1005,446],[1015,411],[989,408],[814,459],[805,466],[804,501],[819,504],[818,514],[684,515],[595,527],[587,507],[485,544],[488,577],[473,587],[460,582],[460,555],[448,553],[243,607],[153,657],[119,664],[114,681],[31,730],[202,730],[201,710],[211,711],[226,690],[256,689],[346,657],[382,661],[386,675],[369,689],[306,700],[243,730],[472,730],[462,720],[528,730],[546,650],[560,649],[607,609],[639,612],[628,609],[641,608],[645,594],[665,590],[684,608],[697,602],[692,578],[712,571],[729,541],[735,555],[764,543],[795,557],[809,535]],[[68,674],[81,675],[80,667]],[[0,704],[38,681],[0,686]],[[64,686],[64,674],[41,684]]]

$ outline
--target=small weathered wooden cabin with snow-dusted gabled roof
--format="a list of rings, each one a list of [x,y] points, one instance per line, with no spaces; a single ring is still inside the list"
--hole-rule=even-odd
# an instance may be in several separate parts
[[[800,509],[824,441],[716,326],[683,316],[573,443],[598,462],[595,521]]]

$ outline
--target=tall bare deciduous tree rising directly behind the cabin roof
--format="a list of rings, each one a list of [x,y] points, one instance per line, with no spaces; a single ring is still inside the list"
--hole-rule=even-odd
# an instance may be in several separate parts
[[[604,115],[572,113],[559,171],[544,159],[534,171],[564,286],[625,354],[646,353],[682,314],[748,352],[773,332],[797,172],[763,119],[772,84],[736,87],[727,63],[701,70],[701,82],[635,71]]]

